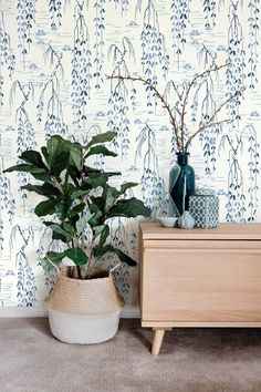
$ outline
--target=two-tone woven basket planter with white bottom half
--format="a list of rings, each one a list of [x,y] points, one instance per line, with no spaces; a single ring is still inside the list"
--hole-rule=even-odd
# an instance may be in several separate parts
[[[52,295],[45,300],[50,328],[66,343],[100,343],[114,337],[124,301],[112,275],[81,280],[70,278],[72,268],[62,269]],[[101,272],[101,271],[100,271]]]

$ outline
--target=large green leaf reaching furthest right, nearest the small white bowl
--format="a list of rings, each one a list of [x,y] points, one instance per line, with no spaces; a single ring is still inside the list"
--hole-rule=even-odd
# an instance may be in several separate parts
[[[117,203],[114,204],[114,206],[107,213],[107,217],[109,218],[116,216],[132,218],[139,215],[149,217],[150,209],[148,207],[145,207],[144,203],[137,199],[136,197],[117,200]]]

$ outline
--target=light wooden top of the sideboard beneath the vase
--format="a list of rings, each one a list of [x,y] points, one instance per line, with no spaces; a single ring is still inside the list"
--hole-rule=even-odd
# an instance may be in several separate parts
[[[217,228],[180,229],[161,227],[156,221],[139,221],[143,239],[244,239],[261,240],[261,223],[219,224]]]

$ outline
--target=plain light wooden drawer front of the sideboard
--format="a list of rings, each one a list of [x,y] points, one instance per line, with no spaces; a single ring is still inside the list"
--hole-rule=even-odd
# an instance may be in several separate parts
[[[230,249],[146,248],[142,265],[143,320],[261,321],[261,248],[254,245]]]

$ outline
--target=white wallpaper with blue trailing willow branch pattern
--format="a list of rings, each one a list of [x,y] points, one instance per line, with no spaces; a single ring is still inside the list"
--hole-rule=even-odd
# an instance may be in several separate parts
[[[189,134],[222,106],[219,124],[192,141],[190,164],[197,186],[219,195],[221,221],[260,220],[259,18],[260,0],[0,0],[0,306],[42,305],[55,276],[40,260],[61,246],[33,214],[40,197],[20,189],[30,177],[3,174],[21,152],[53,134],[85,143],[116,131],[117,158],[93,164],[137,182],[153,217],[167,194],[169,115],[153,87],[109,75],[149,80],[175,112],[186,83],[220,68],[186,109]],[[111,240],[137,259],[137,220],[112,227]],[[137,301],[137,274],[122,266],[116,276],[127,303]]]

